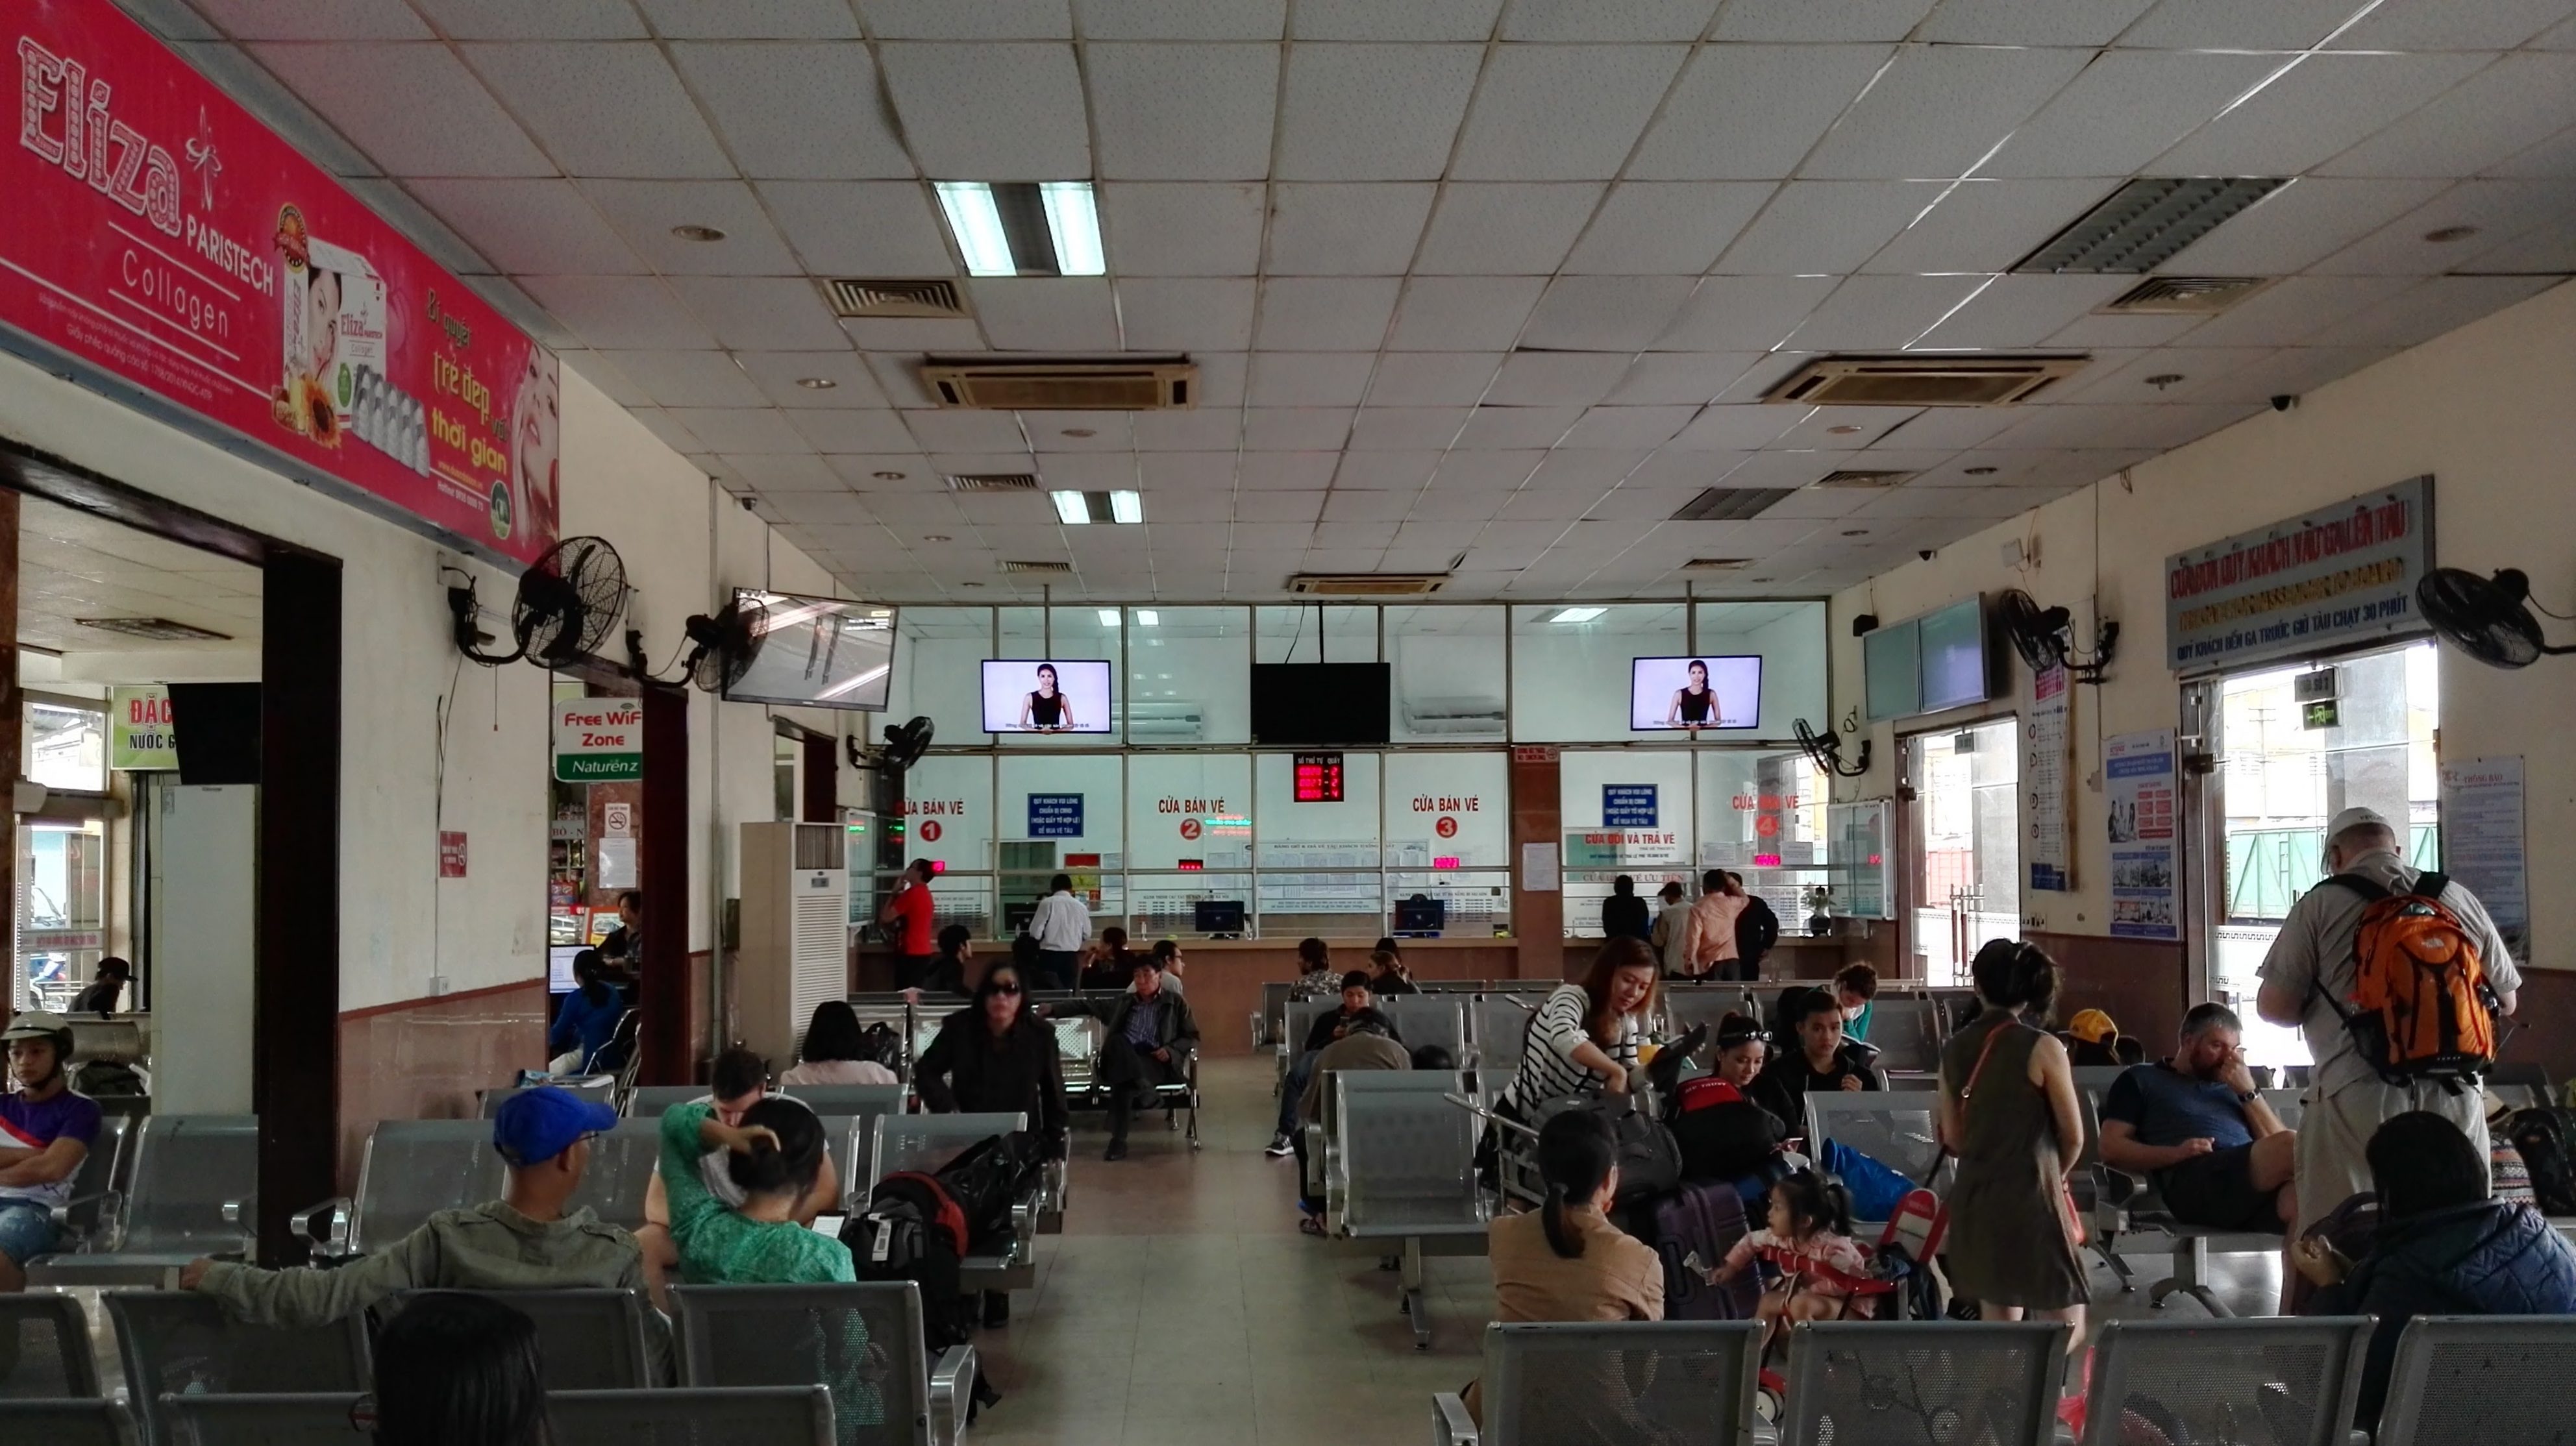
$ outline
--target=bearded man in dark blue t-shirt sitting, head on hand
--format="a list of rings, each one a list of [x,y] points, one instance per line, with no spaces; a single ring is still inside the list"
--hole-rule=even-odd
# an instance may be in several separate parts
[[[2298,1219],[2290,1191],[2298,1134],[2254,1088],[2241,1041],[2233,1010],[2192,1005],[2172,1059],[2112,1083],[2102,1101],[2102,1162],[2151,1178],[2182,1224],[2280,1232]]]

